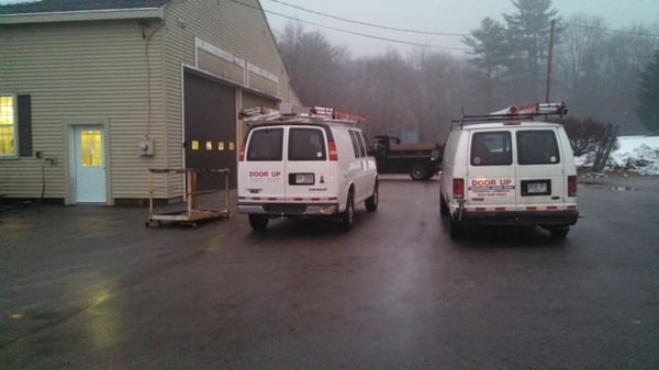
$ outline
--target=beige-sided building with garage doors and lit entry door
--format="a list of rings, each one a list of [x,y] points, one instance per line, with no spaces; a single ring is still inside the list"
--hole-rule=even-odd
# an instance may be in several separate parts
[[[150,168],[230,168],[235,187],[237,112],[280,102],[299,103],[258,0],[0,7],[5,198],[137,204]]]

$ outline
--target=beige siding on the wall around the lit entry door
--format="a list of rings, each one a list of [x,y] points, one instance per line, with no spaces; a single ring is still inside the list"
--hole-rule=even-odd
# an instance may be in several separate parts
[[[33,150],[57,158],[45,167],[46,198],[67,198],[68,125],[104,124],[110,143],[107,172],[110,199],[144,198],[145,169],[137,142],[146,134],[156,143],[164,122],[163,89],[152,40],[150,127],[146,125],[145,43],[136,21],[11,25],[0,29],[3,68],[0,91],[32,96]],[[156,144],[156,150],[158,146]],[[12,198],[41,193],[42,160],[0,160],[0,192]]]

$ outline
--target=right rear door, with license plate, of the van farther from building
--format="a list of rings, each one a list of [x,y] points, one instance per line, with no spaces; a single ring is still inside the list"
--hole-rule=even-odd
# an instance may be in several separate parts
[[[520,211],[552,211],[566,202],[567,173],[557,132],[551,127],[520,128],[517,148],[517,208]]]

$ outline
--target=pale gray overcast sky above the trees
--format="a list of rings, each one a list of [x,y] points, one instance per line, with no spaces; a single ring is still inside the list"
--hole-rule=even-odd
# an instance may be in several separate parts
[[[396,32],[345,22],[314,12],[387,27],[443,34],[468,34],[478,29],[480,22],[487,16],[503,22],[502,13],[516,12],[511,0],[260,0],[260,2],[275,32],[283,30],[291,19],[311,22],[313,24],[302,23],[304,30],[319,30],[334,45],[346,45],[354,56],[379,54],[388,48],[395,48],[405,54],[414,48],[404,43],[377,37],[433,45],[434,51],[455,53],[461,53],[460,49],[463,49],[465,45],[460,43],[461,36]],[[554,0],[552,4],[563,20],[583,12],[587,15],[602,18],[606,27],[611,30],[644,24],[652,25],[654,33],[659,34],[659,0]]]

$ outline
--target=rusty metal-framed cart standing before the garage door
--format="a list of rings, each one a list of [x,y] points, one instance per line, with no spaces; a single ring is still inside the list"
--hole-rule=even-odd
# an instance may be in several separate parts
[[[174,222],[179,224],[189,225],[197,227],[197,222],[210,218],[228,218],[228,168],[222,169],[196,169],[196,168],[149,168],[149,198],[148,198],[148,221],[145,223],[146,227],[152,226],[154,223],[158,226],[163,226],[164,222]],[[166,213],[156,213],[154,208],[154,175],[156,173],[185,173],[186,175],[186,210],[183,211],[170,211]],[[217,192],[204,191],[199,192],[197,190],[197,178],[201,173],[220,173],[224,178],[224,189],[220,191],[223,193],[221,197],[221,210],[203,210],[198,206],[201,195]]]

